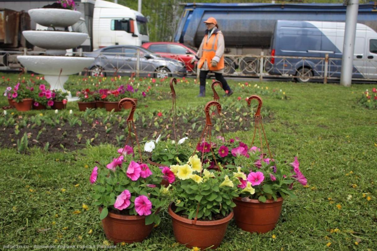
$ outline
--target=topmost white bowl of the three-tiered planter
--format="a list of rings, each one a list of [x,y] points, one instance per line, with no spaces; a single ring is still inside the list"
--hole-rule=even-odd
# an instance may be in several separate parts
[[[81,13],[69,9],[31,9],[28,11],[31,20],[43,26],[68,27],[77,23]]]

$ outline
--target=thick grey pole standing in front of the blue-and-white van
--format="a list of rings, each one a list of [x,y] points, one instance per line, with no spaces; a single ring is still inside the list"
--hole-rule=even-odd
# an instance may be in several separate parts
[[[345,0],[344,3],[347,5],[347,10],[340,84],[349,87],[351,86],[352,81],[353,56],[355,47],[357,12],[359,11],[359,0]]]

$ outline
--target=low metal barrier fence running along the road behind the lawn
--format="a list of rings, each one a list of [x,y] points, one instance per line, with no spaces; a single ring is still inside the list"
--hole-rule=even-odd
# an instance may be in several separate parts
[[[17,55],[43,53],[26,50],[0,51],[0,70],[10,70],[11,67],[18,70],[21,65],[17,61]],[[86,52],[72,52],[71,55],[83,56]],[[327,83],[328,80],[340,79],[341,64],[342,58],[329,58],[328,54],[323,57],[270,56],[263,55],[263,52],[261,55],[225,55],[224,75],[259,78],[261,81],[263,78],[293,78],[300,82],[315,80]],[[183,66],[186,68],[182,69]],[[196,65],[190,64],[185,56],[172,55],[171,58],[162,58],[145,54],[141,50],[132,53],[98,53],[94,67],[83,69],[83,73],[93,76],[134,74],[162,78],[187,74],[198,77]],[[377,61],[356,58],[352,73],[352,80],[376,81]]]

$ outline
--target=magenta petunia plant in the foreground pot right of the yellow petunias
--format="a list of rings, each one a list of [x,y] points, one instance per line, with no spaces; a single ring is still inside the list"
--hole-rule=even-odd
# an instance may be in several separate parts
[[[227,166],[229,169],[238,169],[247,174],[247,177],[240,178],[242,183],[239,186],[240,189],[244,189],[247,183],[251,183],[251,186],[255,189],[253,195],[242,194],[241,196],[258,199],[261,202],[266,202],[267,199],[276,201],[278,197],[283,199],[289,196],[296,198],[292,191],[294,183],[300,183],[303,186],[307,184],[307,179],[299,168],[300,163],[297,157],[291,163],[278,156],[273,157],[273,159],[262,157],[264,155],[261,154],[261,149],[253,146],[248,157],[238,154],[236,164],[241,167]]]

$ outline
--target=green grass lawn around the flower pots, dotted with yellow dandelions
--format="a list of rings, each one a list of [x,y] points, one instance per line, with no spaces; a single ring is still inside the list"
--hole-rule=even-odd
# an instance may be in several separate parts
[[[245,102],[253,93],[242,90],[238,82],[229,81],[235,89],[230,98],[241,97],[240,102]],[[377,250],[377,111],[357,103],[365,89],[376,85],[345,88],[338,84],[251,83],[282,89],[287,95],[288,100],[261,96],[262,109],[273,114],[264,128],[274,154],[292,160],[298,156],[308,186],[295,185],[298,198],[284,201],[273,231],[251,234],[237,228],[232,220],[218,250]],[[2,84],[0,90],[5,87]],[[198,85],[178,83],[177,108],[204,107],[211,100],[210,88],[207,86],[205,99],[196,98],[198,89]],[[2,98],[0,104],[6,103]],[[138,109],[169,109],[171,102],[150,101],[147,105]],[[69,103],[68,109],[78,110],[75,103]],[[20,114],[12,111],[14,116]],[[250,144],[252,132],[227,136],[238,136]],[[94,161],[110,158],[116,146],[48,153],[32,148],[26,154],[16,149],[0,150],[0,249],[3,245],[30,245],[28,250],[49,250],[33,245],[112,245],[104,235],[99,211],[92,205],[89,176]],[[160,215],[161,224],[142,243],[108,249],[187,250],[176,243],[166,208]]]

